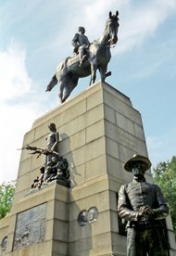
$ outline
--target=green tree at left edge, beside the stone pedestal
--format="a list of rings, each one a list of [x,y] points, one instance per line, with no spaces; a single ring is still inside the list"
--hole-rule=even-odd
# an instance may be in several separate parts
[[[0,185],[0,219],[3,219],[6,213],[11,210],[15,186],[15,181]]]

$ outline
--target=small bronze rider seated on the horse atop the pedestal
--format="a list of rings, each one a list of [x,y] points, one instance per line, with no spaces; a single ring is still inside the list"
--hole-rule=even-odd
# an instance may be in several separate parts
[[[87,49],[90,45],[89,39],[84,34],[85,29],[83,27],[78,28],[78,32],[74,35],[71,45],[74,46],[73,52],[79,54],[80,66],[87,56]]]

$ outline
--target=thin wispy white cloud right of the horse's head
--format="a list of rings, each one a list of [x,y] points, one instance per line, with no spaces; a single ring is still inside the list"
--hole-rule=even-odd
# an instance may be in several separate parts
[[[153,36],[165,19],[176,10],[176,2],[151,1],[143,6],[132,7],[130,3],[123,9],[122,18],[119,13],[119,43],[116,53],[124,53],[135,45],[141,45]]]

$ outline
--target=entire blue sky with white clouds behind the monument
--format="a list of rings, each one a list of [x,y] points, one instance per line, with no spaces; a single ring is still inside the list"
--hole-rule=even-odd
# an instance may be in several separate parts
[[[0,0],[0,183],[16,179],[17,148],[32,122],[59,104],[58,87],[50,93],[45,87],[72,55],[78,27],[93,42],[108,12],[117,9],[119,42],[111,50],[107,83],[141,112],[153,166],[176,155],[175,0]],[[80,80],[70,97],[87,88],[89,79]]]

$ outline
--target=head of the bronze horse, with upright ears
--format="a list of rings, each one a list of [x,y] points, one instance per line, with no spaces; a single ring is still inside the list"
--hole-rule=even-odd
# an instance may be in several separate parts
[[[118,28],[119,28],[119,11],[116,12],[116,15],[112,15],[112,12],[109,12],[109,17],[107,19],[106,31],[108,34],[108,42],[112,45],[115,45],[118,42]]]

